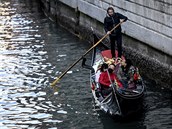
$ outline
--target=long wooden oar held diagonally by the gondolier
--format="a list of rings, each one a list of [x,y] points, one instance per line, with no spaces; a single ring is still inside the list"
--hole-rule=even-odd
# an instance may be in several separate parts
[[[119,24],[117,24],[111,31],[114,31],[119,25],[121,25],[124,22],[124,20],[122,20]],[[94,44],[90,49],[88,49],[88,51],[86,51],[78,60],[76,60],[71,66],[69,66],[59,77],[56,78],[56,80],[51,84],[51,86],[55,86],[56,83],[72,68],[74,67],[81,59],[83,59],[83,57],[85,55],[87,55],[93,48],[95,48],[99,43],[102,42],[103,39],[105,39],[110,33],[107,33],[106,35],[104,35],[96,44]]]

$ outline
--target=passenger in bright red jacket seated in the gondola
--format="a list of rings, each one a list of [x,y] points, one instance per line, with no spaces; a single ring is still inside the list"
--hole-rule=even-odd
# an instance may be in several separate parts
[[[103,96],[108,95],[112,91],[111,81],[112,83],[114,83],[114,81],[116,80],[116,75],[114,74],[114,70],[115,70],[115,66],[109,65],[108,70],[100,74],[99,83],[101,85]],[[108,75],[108,72],[109,72],[109,75]],[[110,76],[111,81],[109,79],[109,76]]]

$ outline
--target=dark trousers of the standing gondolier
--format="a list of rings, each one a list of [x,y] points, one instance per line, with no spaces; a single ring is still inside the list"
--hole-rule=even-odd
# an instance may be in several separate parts
[[[112,58],[115,57],[115,44],[117,43],[118,48],[118,57],[122,56],[122,34],[119,33],[116,36],[110,35],[110,44],[111,44],[111,54]]]

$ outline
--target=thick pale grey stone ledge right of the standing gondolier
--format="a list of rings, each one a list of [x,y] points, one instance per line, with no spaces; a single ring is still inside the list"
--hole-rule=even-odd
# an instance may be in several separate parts
[[[172,56],[171,38],[160,35],[159,33],[151,31],[130,21],[123,24],[123,31],[125,34]]]

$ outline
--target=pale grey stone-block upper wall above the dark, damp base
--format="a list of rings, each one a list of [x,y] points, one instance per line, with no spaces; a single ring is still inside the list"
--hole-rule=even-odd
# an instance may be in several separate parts
[[[123,31],[172,56],[172,1],[165,0],[60,0],[64,4],[103,22],[106,9],[113,6],[128,16]]]

